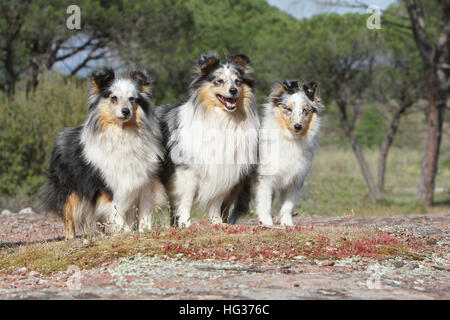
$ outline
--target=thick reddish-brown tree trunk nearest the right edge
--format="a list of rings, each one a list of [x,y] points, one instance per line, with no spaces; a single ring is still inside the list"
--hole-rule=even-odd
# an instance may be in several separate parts
[[[425,153],[420,170],[417,191],[419,199],[427,206],[433,204],[435,177],[438,169],[442,138],[442,124],[447,100],[448,76],[443,68],[435,65],[429,74],[428,129]]]

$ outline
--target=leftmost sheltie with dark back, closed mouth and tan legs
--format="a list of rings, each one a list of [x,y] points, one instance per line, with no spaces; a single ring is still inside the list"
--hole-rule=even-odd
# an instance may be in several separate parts
[[[130,230],[137,215],[139,229],[149,229],[153,207],[164,201],[150,78],[141,71],[116,78],[103,69],[91,82],[89,115],[59,133],[41,192],[44,208],[62,216],[67,239],[76,227],[97,232],[99,223]]]

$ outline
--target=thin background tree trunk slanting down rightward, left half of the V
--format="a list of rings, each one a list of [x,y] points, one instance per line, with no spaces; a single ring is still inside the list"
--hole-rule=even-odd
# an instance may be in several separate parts
[[[356,136],[353,134],[352,128],[348,124],[347,110],[346,110],[347,102],[340,100],[337,101],[337,105],[339,108],[339,121],[341,123],[342,128],[344,129],[347,139],[350,142],[350,146],[352,147],[353,153],[355,154],[356,159],[358,160],[359,167],[364,177],[364,182],[366,183],[367,189],[369,191],[369,197],[372,200],[379,199],[381,197],[381,194],[378,192],[375,186],[372,174],[370,173],[369,164],[364,158],[361,145],[358,143]]]

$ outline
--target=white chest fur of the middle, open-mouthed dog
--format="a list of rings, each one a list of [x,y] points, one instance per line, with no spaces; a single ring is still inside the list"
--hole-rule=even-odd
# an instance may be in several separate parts
[[[214,108],[204,111],[187,103],[180,110],[177,139],[179,159],[195,171],[196,202],[206,205],[229,192],[257,159],[259,120],[256,115],[235,121],[227,112]]]

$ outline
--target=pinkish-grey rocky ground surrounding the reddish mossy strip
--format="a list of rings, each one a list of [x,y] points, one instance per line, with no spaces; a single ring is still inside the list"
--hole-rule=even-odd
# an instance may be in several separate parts
[[[248,221],[254,224],[255,221]],[[49,275],[18,267],[0,273],[1,299],[450,299],[450,215],[297,217],[301,226],[382,230],[427,244],[419,259],[353,256],[323,260],[193,261],[183,255],[146,255],[69,268]],[[62,223],[32,210],[0,215],[0,250],[61,241]]]

